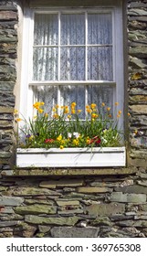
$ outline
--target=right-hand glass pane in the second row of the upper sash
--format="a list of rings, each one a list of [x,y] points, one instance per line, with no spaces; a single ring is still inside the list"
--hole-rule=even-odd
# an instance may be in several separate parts
[[[88,80],[113,80],[112,48],[88,48]]]

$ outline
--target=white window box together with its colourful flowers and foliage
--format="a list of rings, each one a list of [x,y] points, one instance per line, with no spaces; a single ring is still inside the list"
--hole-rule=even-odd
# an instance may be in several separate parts
[[[117,102],[115,103],[118,104]],[[110,107],[95,103],[86,106],[85,120],[76,102],[70,106],[54,106],[49,114],[44,102],[33,105],[37,115],[33,119],[21,119],[15,112],[16,122],[21,126],[18,166],[121,166],[125,165],[125,149],[121,147],[121,131],[117,128],[117,112],[114,120]],[[119,157],[118,157],[119,156]]]

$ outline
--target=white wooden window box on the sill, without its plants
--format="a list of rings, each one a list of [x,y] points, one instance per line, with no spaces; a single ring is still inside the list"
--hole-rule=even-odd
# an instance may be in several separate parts
[[[17,148],[17,167],[117,167],[125,166],[125,147]]]

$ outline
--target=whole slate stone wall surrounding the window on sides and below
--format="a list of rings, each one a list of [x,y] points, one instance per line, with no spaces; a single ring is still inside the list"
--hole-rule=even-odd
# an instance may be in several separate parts
[[[128,1],[127,16],[127,168],[17,170],[18,14],[0,1],[0,237],[147,237],[146,1]]]

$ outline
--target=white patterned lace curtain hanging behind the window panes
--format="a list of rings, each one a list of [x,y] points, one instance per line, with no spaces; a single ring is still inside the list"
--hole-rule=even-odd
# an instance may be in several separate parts
[[[35,95],[46,102],[47,111],[54,104],[76,101],[84,118],[90,102],[111,106],[113,88],[92,85],[92,80],[113,80],[111,15],[36,14],[33,80],[91,80],[91,85],[37,86]]]

